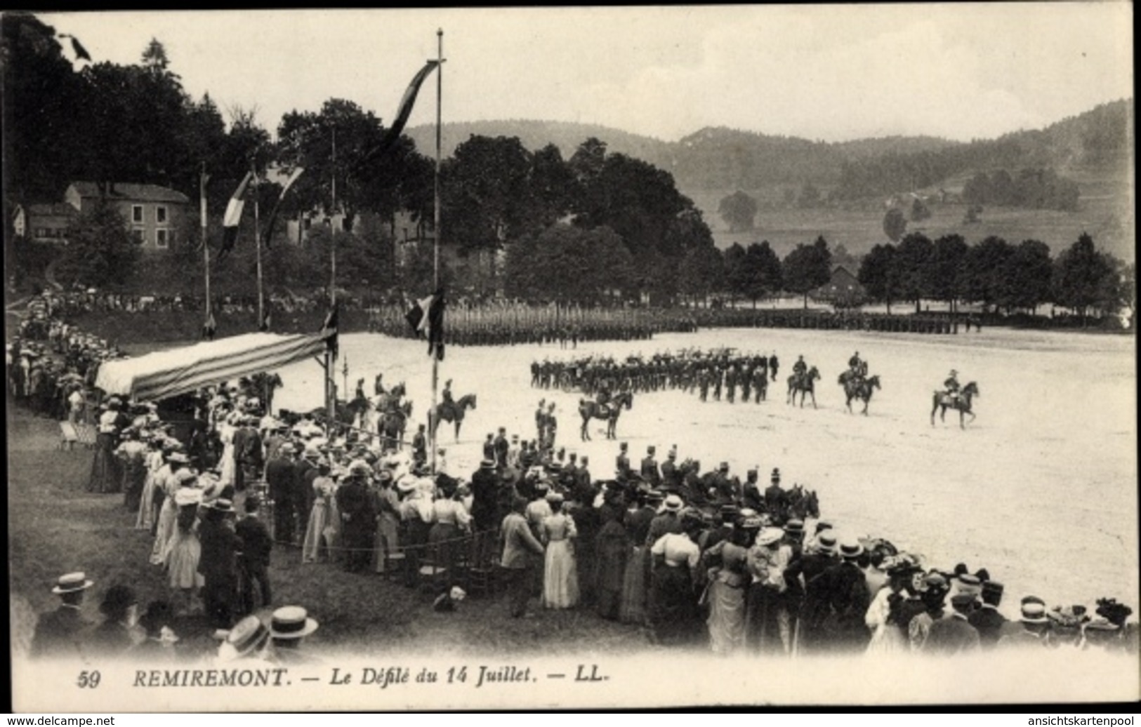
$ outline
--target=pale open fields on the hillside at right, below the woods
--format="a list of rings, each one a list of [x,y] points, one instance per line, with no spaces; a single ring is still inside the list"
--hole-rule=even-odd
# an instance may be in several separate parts
[[[1083,232],[1090,232],[1099,247],[1125,260],[1134,259],[1134,218],[1132,190],[1111,179],[1083,179],[1071,175],[1082,185],[1082,209],[1077,212],[1051,210],[1021,210],[1012,207],[987,207],[981,221],[963,224],[966,212],[962,204],[939,204],[930,202],[932,217],[919,223],[909,223],[908,230],[922,231],[932,239],[950,232],[958,232],[968,243],[977,243],[989,235],[997,235],[1006,242],[1039,239],[1058,254]],[[948,186],[948,190],[956,187]],[[748,232],[730,232],[717,213],[720,201],[735,189],[683,190],[702,210],[705,222],[713,231],[718,247],[734,243],[747,245],[768,240],[782,258],[798,243],[811,243],[817,235],[824,235],[831,246],[842,243],[855,255],[866,253],[873,245],[887,242],[883,235],[885,209],[875,203],[852,205],[852,209],[820,207],[801,210],[796,207],[763,210],[756,215],[756,228]],[[777,203],[779,190],[745,190],[762,202]]]

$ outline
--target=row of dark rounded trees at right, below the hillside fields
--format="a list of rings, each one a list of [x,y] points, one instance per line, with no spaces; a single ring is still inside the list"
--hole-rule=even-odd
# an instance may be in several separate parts
[[[888,304],[923,300],[981,303],[987,309],[1033,312],[1054,303],[1077,315],[1133,309],[1134,264],[1099,251],[1083,234],[1057,259],[1050,247],[1028,239],[1012,245],[990,236],[969,245],[960,235],[931,240],[921,232],[898,245],[876,245],[864,256],[858,279],[867,295]]]

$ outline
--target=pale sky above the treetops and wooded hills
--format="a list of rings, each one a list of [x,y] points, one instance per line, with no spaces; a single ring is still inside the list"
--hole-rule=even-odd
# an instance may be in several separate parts
[[[705,126],[842,141],[1039,129],[1133,96],[1128,2],[40,14],[96,62],[152,38],[195,98],[286,112],[346,98],[386,123],[444,31],[444,122]],[[68,48],[66,54],[73,54]],[[435,121],[426,84],[410,125]]]

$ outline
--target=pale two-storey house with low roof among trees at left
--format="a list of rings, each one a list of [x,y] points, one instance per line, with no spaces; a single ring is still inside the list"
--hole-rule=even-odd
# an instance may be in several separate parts
[[[76,212],[89,212],[106,199],[113,204],[131,228],[144,251],[167,250],[175,242],[175,231],[191,213],[186,195],[159,185],[89,181],[72,182],[64,193],[64,202]]]

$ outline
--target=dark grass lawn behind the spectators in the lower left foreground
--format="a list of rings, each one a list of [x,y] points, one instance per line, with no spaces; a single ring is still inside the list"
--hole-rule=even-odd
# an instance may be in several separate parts
[[[99,620],[98,601],[113,583],[129,583],[141,604],[169,598],[161,570],[148,563],[153,539],[135,530],[121,495],[86,491],[91,451],[59,451],[58,425],[8,407],[8,532],[10,591],[37,612],[54,608],[50,588],[62,573],[81,570],[96,582],[84,614]],[[321,622],[314,648],[372,653],[399,648],[421,653],[545,654],[557,651],[646,648],[639,629],[605,621],[592,611],[539,611],[516,620],[503,597],[469,598],[454,613],[431,608],[432,593],[405,588],[380,574],[349,574],[338,565],[300,563],[298,549],[277,546],[270,583],[275,605],[299,604]],[[213,651],[217,642],[201,618],[176,626],[188,654]],[[13,643],[22,642],[14,634]],[[600,646],[601,645],[601,646]]]

